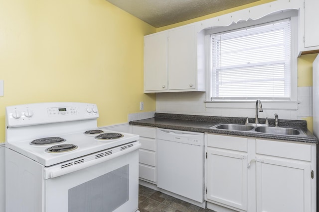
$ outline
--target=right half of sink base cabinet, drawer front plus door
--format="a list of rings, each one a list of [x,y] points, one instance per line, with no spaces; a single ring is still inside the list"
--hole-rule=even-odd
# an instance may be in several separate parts
[[[316,145],[256,139],[256,212],[316,211]]]

